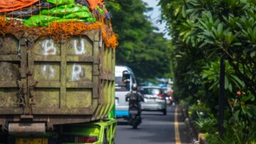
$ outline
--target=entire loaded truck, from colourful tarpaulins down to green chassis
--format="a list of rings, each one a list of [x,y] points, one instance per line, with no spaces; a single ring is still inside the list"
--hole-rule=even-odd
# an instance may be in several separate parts
[[[117,42],[104,4],[30,2],[0,9],[0,142],[114,143]]]

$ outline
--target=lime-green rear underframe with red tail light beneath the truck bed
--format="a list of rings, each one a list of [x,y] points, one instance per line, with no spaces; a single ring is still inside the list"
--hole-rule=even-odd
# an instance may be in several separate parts
[[[107,118],[102,121],[63,127],[61,143],[114,144],[116,125],[117,120]]]

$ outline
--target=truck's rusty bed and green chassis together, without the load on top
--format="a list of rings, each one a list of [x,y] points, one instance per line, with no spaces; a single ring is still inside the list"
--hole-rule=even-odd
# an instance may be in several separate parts
[[[26,30],[0,34],[0,143],[113,144],[115,50],[104,29],[61,41]]]

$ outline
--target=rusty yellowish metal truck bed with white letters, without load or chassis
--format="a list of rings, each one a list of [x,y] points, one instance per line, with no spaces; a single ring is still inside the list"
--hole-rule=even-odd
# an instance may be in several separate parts
[[[107,116],[114,105],[115,57],[101,34],[87,31],[61,43],[0,36],[0,125],[33,118],[51,126]]]

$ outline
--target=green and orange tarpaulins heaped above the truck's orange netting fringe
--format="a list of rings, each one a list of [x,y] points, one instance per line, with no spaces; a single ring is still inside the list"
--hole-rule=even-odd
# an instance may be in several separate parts
[[[49,26],[54,21],[95,23],[95,17],[99,16],[93,16],[92,11],[96,11],[98,15],[105,15],[100,6],[90,11],[90,5],[85,0],[31,0],[30,3],[25,0],[10,0],[0,1],[0,5],[3,5],[0,8],[1,16],[5,16],[6,20],[22,21],[25,26]],[[2,8],[5,6],[5,9]]]

